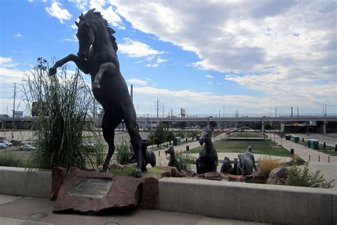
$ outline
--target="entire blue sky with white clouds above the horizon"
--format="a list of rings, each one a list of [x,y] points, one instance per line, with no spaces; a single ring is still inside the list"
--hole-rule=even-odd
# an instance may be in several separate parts
[[[139,115],[157,99],[164,115],[337,113],[336,1],[2,0],[0,114],[36,58],[77,53],[74,21],[91,8],[117,31]]]

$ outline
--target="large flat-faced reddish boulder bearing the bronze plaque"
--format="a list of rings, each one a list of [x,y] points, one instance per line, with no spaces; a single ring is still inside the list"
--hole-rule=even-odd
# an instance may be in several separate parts
[[[137,209],[140,198],[140,179],[71,167],[53,211],[80,214],[130,211]]]

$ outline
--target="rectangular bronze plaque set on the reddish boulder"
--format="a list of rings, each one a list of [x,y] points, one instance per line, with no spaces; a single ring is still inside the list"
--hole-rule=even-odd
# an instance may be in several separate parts
[[[114,183],[111,179],[76,177],[67,194],[77,197],[102,199],[107,196]]]

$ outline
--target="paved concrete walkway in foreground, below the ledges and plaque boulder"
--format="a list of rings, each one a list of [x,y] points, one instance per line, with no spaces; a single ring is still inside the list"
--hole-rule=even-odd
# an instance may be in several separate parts
[[[131,224],[260,224],[232,219],[217,219],[196,214],[182,214],[171,211],[137,210],[127,214],[88,216],[77,214],[53,214],[55,202],[48,199],[15,197],[0,194],[0,224],[1,225],[131,225]]]

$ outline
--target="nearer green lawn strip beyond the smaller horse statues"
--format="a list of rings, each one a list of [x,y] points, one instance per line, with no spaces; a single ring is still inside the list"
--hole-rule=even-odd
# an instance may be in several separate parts
[[[284,147],[279,147],[272,140],[220,140],[215,142],[217,152],[246,152],[247,147],[252,147],[252,153],[262,155],[274,155],[281,157],[292,157]],[[201,147],[194,148],[184,153],[198,153]]]

